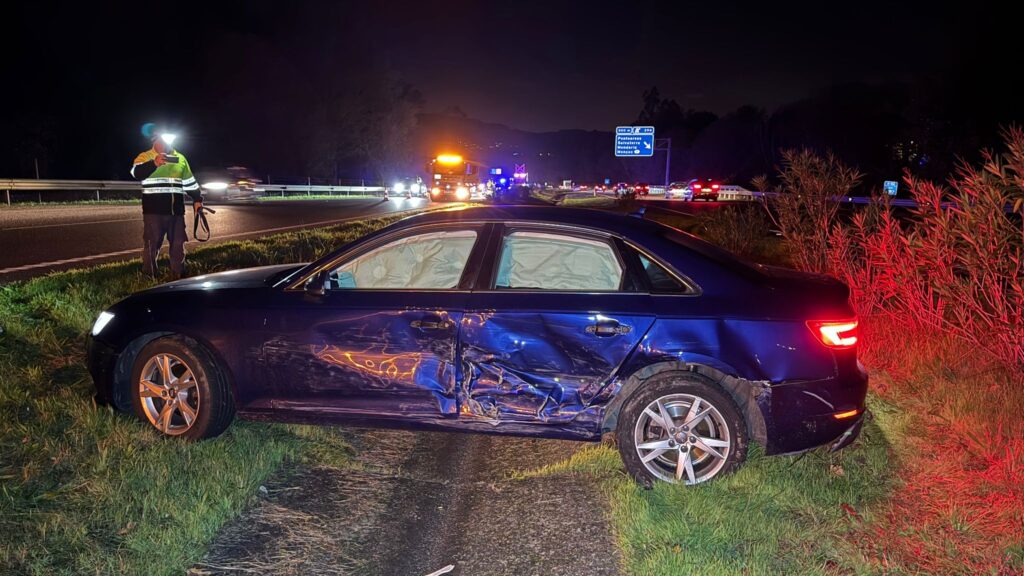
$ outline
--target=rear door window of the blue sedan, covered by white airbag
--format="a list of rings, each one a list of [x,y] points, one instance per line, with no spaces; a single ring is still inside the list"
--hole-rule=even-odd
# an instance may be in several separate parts
[[[616,291],[623,265],[607,242],[546,232],[513,232],[502,242],[498,289]]]

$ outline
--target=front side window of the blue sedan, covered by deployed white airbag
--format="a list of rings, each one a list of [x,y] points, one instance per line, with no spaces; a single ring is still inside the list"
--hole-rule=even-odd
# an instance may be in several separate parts
[[[410,236],[349,260],[329,276],[332,289],[452,290],[469,260],[476,231]]]

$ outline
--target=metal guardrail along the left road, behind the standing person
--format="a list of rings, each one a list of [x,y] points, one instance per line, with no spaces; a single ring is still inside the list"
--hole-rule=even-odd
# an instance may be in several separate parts
[[[263,184],[255,188],[257,192],[281,196],[294,195],[383,195],[384,187],[381,186],[310,186],[310,184]],[[91,192],[95,194],[95,199],[100,200],[103,193],[137,193],[141,195],[142,187],[132,180],[33,180],[33,179],[0,179],[0,191],[3,191],[3,200],[9,206],[11,204],[11,193],[25,194],[35,193],[36,200],[43,202],[43,193],[54,192]],[[209,194],[209,193],[207,193]]]

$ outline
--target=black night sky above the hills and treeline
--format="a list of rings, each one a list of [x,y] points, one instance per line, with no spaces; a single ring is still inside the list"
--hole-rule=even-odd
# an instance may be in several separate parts
[[[43,130],[59,151],[49,153],[51,173],[88,163],[98,165],[89,176],[108,177],[115,158],[139,147],[145,121],[177,126],[208,151],[238,138],[290,146],[302,134],[282,134],[310,97],[367,70],[411,83],[424,112],[458,108],[531,131],[609,130],[632,122],[654,85],[718,114],[748,104],[771,111],[845,82],[935,77],[973,93],[973,75],[1011,46],[994,27],[1002,18],[982,3],[778,4],[5,5],[0,136],[10,151]],[[82,152],[69,158],[69,148]]]

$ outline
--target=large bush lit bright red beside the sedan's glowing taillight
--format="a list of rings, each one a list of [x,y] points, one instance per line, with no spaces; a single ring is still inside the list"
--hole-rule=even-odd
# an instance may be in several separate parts
[[[907,222],[879,199],[831,231],[827,257],[858,314],[950,334],[1024,370],[1024,224],[1007,212],[1022,190],[1024,131],[1007,140],[1007,154],[986,153],[948,188],[908,177]]]

